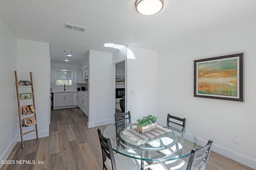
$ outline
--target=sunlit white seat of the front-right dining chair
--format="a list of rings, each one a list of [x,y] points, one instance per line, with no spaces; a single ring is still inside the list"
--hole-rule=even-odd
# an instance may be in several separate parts
[[[175,154],[171,154],[170,157],[178,158]],[[153,162],[149,168],[150,170],[186,170],[187,163],[182,159],[168,160],[164,162]]]

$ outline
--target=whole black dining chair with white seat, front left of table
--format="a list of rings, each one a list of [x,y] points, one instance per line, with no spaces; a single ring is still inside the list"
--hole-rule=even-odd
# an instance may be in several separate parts
[[[98,129],[100,147],[102,150],[103,170],[140,170],[140,160],[129,158],[122,154],[114,154],[111,141],[102,135]],[[129,152],[132,156],[140,157],[134,150],[125,149],[123,152]],[[144,161],[144,169],[148,169],[148,164]]]

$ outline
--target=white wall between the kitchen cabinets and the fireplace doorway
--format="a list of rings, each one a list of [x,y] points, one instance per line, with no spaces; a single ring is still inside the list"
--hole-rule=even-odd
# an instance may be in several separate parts
[[[90,50],[88,127],[114,122],[115,68],[112,53]]]

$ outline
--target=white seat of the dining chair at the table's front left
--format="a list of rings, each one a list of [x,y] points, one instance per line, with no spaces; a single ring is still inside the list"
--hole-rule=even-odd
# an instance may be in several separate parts
[[[130,154],[131,156],[135,156],[140,158],[140,156],[132,149],[124,149],[121,152],[125,154]],[[133,159],[129,158],[127,156],[124,156],[122,154],[114,154],[115,160],[116,160],[116,168],[118,170],[140,170],[140,164],[141,160],[140,159]],[[111,165],[111,160],[106,159],[104,162],[108,170],[112,170],[112,165]],[[148,169],[148,164],[146,161],[144,161],[144,169]]]

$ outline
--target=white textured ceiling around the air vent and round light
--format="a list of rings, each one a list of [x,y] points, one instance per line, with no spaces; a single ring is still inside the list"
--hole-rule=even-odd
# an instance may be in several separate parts
[[[89,49],[115,51],[104,43],[158,51],[256,20],[256,0],[164,0],[152,16],[138,14],[135,2],[0,0],[0,18],[18,39],[49,43],[52,63],[66,64],[84,63]],[[86,31],[65,29],[65,23]]]

